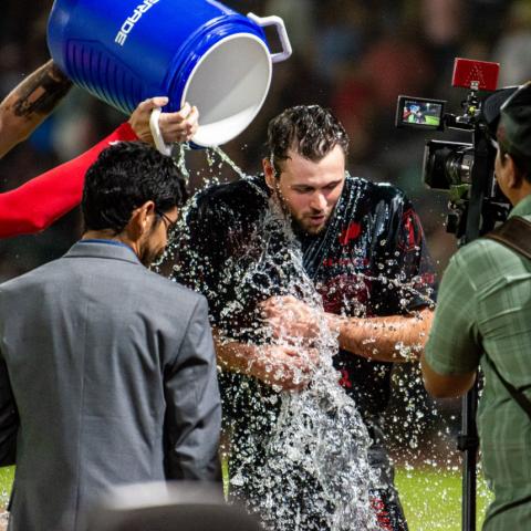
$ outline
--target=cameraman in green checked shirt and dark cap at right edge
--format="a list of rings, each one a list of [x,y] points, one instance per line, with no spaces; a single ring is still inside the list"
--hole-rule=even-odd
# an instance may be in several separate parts
[[[496,178],[512,216],[531,220],[531,83],[502,105]],[[423,357],[428,392],[460,396],[478,367],[485,391],[478,429],[494,493],[483,531],[531,529],[531,421],[499,376],[531,398],[531,261],[490,239],[457,252],[445,272]]]

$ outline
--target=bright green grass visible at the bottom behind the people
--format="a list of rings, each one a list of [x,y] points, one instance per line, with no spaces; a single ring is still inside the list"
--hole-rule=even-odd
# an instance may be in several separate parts
[[[1,506],[6,507],[14,467],[0,468]],[[400,492],[409,531],[459,531],[461,529],[461,479],[458,471],[397,469],[396,486]],[[490,494],[483,481],[478,485],[478,530]]]

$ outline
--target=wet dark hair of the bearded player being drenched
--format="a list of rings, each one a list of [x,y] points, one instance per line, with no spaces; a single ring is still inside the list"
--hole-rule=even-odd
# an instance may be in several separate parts
[[[267,148],[277,176],[279,163],[289,158],[292,149],[312,162],[325,157],[335,146],[348,154],[348,135],[340,121],[320,105],[298,105],[271,119]]]

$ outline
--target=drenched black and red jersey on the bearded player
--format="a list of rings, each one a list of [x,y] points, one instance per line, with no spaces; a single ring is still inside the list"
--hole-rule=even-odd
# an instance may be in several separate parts
[[[180,246],[178,280],[207,296],[214,325],[235,340],[260,341],[256,304],[284,294],[285,282],[296,275],[282,253],[289,244],[282,232],[274,238],[270,233],[268,241],[260,232],[268,200],[262,177],[239,180],[200,192],[186,216],[188,241]],[[410,201],[393,186],[347,177],[325,230],[296,239],[303,268],[327,312],[397,315],[431,302],[435,274],[423,229]],[[263,246],[277,247],[269,252],[277,258],[253,269]],[[392,365],[345,351],[334,357],[340,384],[365,417],[378,416],[387,405]],[[263,387],[257,382],[250,385]],[[236,406],[231,402],[226,412]],[[244,402],[237,412],[249,406]]]

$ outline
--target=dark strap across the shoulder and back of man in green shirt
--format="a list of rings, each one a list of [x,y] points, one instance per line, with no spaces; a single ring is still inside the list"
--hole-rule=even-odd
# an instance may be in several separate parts
[[[492,230],[483,238],[498,241],[499,243],[531,260],[531,222],[524,218],[519,216],[509,218],[503,225]],[[531,420],[531,402],[528,399],[528,397],[500,374],[498,367],[494,365],[492,360],[489,358],[487,353],[485,354],[485,360],[512,398],[528,414],[528,417]]]

